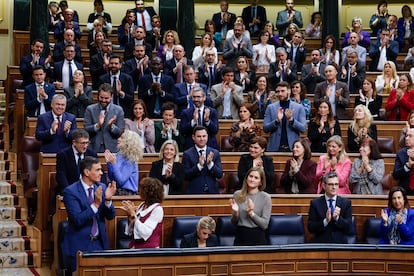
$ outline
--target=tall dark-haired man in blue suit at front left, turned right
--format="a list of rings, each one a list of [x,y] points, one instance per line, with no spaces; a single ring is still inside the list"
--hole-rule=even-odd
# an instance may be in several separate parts
[[[76,253],[109,248],[106,220],[115,217],[112,196],[116,184],[100,183],[102,167],[98,158],[85,157],[80,163],[81,179],[63,191],[69,227],[63,240],[64,258],[70,261],[69,275],[76,271]]]

